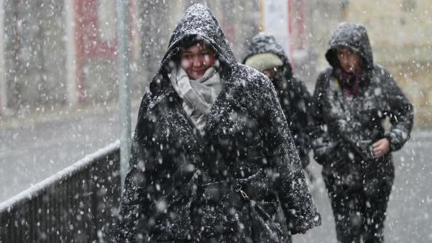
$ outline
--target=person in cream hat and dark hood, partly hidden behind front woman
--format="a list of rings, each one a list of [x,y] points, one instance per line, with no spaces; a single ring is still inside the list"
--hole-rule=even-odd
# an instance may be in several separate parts
[[[307,127],[311,125],[311,95],[304,83],[293,75],[283,47],[274,36],[259,33],[252,38],[243,63],[263,72],[272,81],[303,168],[306,168],[310,150]]]

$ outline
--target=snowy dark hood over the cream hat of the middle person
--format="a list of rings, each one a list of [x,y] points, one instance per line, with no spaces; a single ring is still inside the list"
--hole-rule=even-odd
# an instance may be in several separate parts
[[[293,76],[293,68],[291,68],[291,63],[289,63],[284,48],[276,42],[274,36],[270,36],[266,33],[259,33],[252,38],[242,63],[244,64],[247,58],[261,53],[272,53],[279,56],[284,63],[286,78],[291,79]]]

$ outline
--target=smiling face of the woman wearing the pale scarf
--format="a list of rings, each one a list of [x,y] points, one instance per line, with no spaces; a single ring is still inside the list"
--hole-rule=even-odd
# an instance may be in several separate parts
[[[213,49],[202,41],[196,42],[180,52],[180,65],[192,80],[203,77],[208,68],[215,64],[215,61]]]

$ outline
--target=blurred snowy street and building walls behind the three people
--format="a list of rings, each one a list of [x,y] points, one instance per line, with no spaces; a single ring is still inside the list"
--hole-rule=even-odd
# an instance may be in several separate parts
[[[415,107],[414,135],[395,156],[390,242],[409,242],[403,235],[432,241],[430,0],[130,0],[132,128],[173,27],[193,3],[213,11],[238,61],[256,33],[280,34],[311,92],[337,24],[364,24],[376,63]],[[0,202],[118,139],[116,26],[115,0],[0,0]],[[311,188],[325,212],[318,233],[333,242],[320,167],[311,166],[318,183]],[[307,237],[314,234],[298,241]]]

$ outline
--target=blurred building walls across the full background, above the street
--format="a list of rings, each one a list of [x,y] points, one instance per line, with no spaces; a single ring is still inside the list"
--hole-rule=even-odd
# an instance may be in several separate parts
[[[238,61],[263,29],[263,1],[130,0],[132,97],[139,100],[178,18],[206,4]],[[290,13],[295,74],[313,90],[339,22],[366,26],[376,63],[415,104],[416,126],[432,127],[430,0],[279,0]],[[0,0],[0,118],[105,105],[118,99],[116,0]]]

